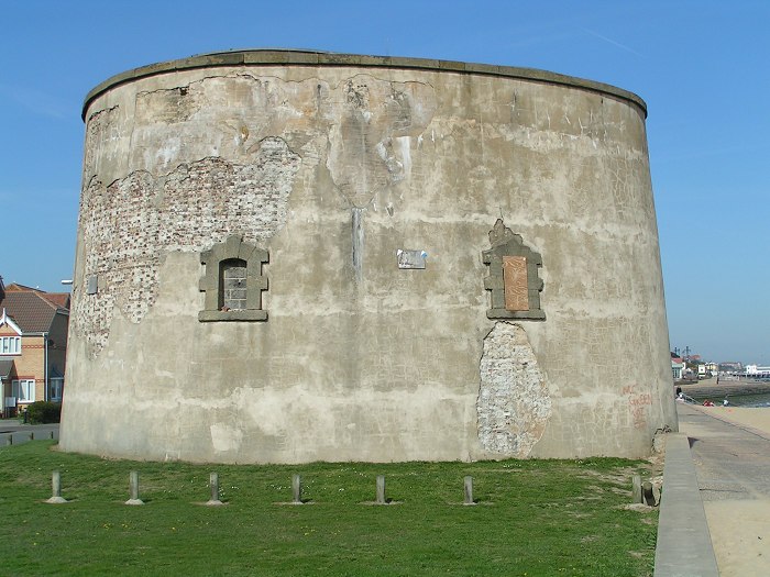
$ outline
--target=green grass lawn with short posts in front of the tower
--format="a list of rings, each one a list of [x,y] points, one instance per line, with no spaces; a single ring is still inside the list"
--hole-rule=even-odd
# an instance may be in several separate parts
[[[188,465],[0,450],[0,575],[652,575],[645,462]],[[72,502],[47,504],[51,475]],[[144,507],[123,504],[140,471]],[[217,471],[224,507],[202,507]],[[302,476],[302,506],[292,475]],[[375,499],[385,475],[387,506]],[[463,477],[479,504],[464,507]]]

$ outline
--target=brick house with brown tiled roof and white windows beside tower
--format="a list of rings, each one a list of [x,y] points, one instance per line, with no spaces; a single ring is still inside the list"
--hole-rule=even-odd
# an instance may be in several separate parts
[[[0,389],[6,415],[34,401],[61,401],[69,295],[0,277]]]

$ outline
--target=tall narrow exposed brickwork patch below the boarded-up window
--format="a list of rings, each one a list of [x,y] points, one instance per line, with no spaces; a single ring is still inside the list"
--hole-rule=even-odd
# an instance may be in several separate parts
[[[484,450],[527,457],[551,415],[551,397],[527,333],[498,322],[484,339],[476,401]]]

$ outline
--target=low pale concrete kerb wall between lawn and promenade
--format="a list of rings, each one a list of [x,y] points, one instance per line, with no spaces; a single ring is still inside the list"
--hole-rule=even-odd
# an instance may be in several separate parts
[[[654,576],[718,575],[688,435],[670,433],[666,441]]]

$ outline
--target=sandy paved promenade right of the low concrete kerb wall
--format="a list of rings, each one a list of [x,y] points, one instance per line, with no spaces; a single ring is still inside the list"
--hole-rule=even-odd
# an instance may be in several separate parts
[[[722,577],[770,576],[770,435],[678,403]]]

